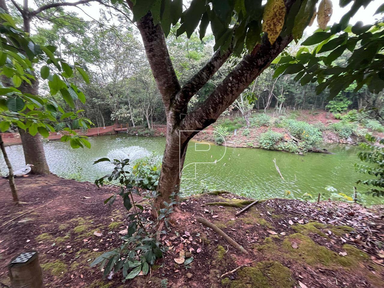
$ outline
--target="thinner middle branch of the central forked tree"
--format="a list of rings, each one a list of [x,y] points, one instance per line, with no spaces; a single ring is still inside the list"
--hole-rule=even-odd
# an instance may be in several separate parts
[[[181,90],[177,93],[172,108],[176,112],[186,113],[189,100],[204,86],[209,79],[220,69],[220,67],[227,61],[232,53],[232,48],[229,48],[224,53],[220,53],[218,49],[207,64],[200,69],[192,78],[184,84]]]

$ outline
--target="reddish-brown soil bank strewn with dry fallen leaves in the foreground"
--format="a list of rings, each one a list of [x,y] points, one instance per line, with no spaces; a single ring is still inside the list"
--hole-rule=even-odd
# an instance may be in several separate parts
[[[31,204],[13,205],[8,182],[1,179],[2,224],[0,225],[22,213],[46,205],[0,227],[0,282],[7,284],[6,265],[13,256],[24,250],[36,249],[40,253],[43,267],[46,267],[44,265],[46,263],[57,261],[64,264],[64,269],[59,270],[56,275],[53,275],[54,273],[49,269],[44,269],[43,275],[47,287],[122,287],[121,272],[116,273],[112,280],[103,281],[102,273],[98,268],[89,268],[93,258],[121,244],[118,232],[127,224],[125,220],[127,215],[122,201],[117,199],[112,207],[103,204],[103,200],[108,198],[114,189],[108,187],[97,189],[93,184],[65,180],[56,175],[38,177],[30,175],[16,179],[16,184],[20,199]],[[163,286],[166,281],[167,287],[172,288],[227,287],[220,284],[217,275],[253,260],[257,260],[252,264],[253,266],[260,261],[274,260],[290,269],[292,287],[300,287],[299,281],[308,288],[382,287],[384,267],[381,257],[384,257],[384,254],[379,247],[384,237],[382,209],[365,209],[359,205],[335,202],[308,204],[297,200],[271,199],[235,217],[235,213],[240,208],[202,206],[207,202],[233,201],[233,199],[244,199],[244,197],[221,194],[184,199],[179,210],[173,215],[174,226],[162,238],[164,245],[170,247],[170,250],[156,263],[156,267],[152,268],[151,275],[138,276],[133,281],[126,281],[123,286],[161,287],[161,281]],[[150,208],[147,207],[146,211],[147,216],[150,217]],[[248,251],[248,254],[243,255],[215,232],[196,222],[197,216],[220,225],[225,233]],[[337,253],[344,251],[344,243],[358,247],[368,256],[364,261],[358,258],[351,262],[351,267],[344,268],[325,265],[321,259],[316,265],[309,265],[304,257],[295,259],[278,253],[286,249],[284,245],[286,240],[290,239],[288,238],[290,234],[297,232],[293,228],[300,227],[299,223],[306,224],[310,221],[348,225],[355,228],[353,232],[342,235],[331,232],[331,228],[316,230],[317,232],[311,231],[309,234],[305,234],[305,230],[301,231],[317,243],[316,245],[336,252],[335,258],[343,257]],[[111,228],[109,226],[111,223],[117,223],[116,227]],[[80,227],[81,225],[85,226]],[[93,235],[96,229],[103,232],[101,237]],[[42,234],[45,237],[42,237]],[[272,241],[274,248],[263,249],[264,239],[271,234],[279,236],[279,238],[268,238]],[[63,241],[59,242],[57,237],[65,237],[65,235],[68,237],[62,238]],[[298,255],[301,252],[304,253],[303,255],[308,253],[302,250],[304,244],[300,239],[295,241],[298,244]],[[223,247],[221,256],[218,245]],[[180,249],[191,252],[194,257],[189,269],[174,262],[174,258],[179,258]],[[345,256],[345,259],[354,260],[352,255]],[[229,278],[235,279],[236,275],[237,273],[232,273]]]

